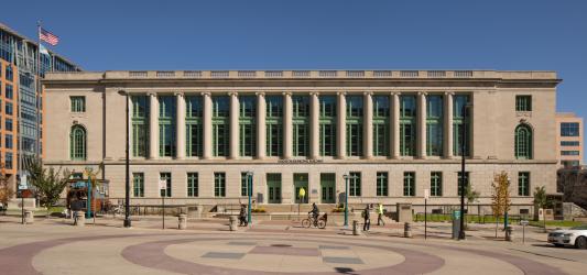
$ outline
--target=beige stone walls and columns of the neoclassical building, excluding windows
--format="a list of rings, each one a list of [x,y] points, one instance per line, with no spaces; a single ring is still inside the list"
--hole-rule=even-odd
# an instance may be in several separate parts
[[[490,204],[493,174],[506,170],[512,178],[512,202],[531,205],[529,196],[518,196],[518,172],[529,172],[530,188],[546,186],[548,193],[556,191],[557,153],[555,150],[556,85],[559,79],[552,72],[452,72],[452,70],[279,70],[279,72],[106,72],[48,74],[45,88],[45,164],[65,166],[81,172],[86,166],[105,165],[104,177],[110,180],[110,198],[124,196],[124,106],[129,95],[170,95],[177,99],[177,148],[173,157],[156,154],[159,131],[150,132],[151,147],[146,157],[131,158],[131,173],[144,173],[144,198],[131,198],[132,204],[159,204],[157,180],[160,173],[172,174],[172,198],[169,204],[235,204],[244,202],[240,196],[241,173],[251,170],[253,197],[258,204],[268,202],[267,174],[281,174],[281,202],[294,204],[293,177],[297,173],[308,174],[309,202],[322,202],[320,173],[336,174],[336,201],[345,193],[343,176],[349,172],[361,173],[361,196],[350,197],[350,204],[396,202],[423,204],[424,189],[431,186],[431,172],[442,172],[443,196],[433,197],[428,204],[457,205],[457,172],[460,158],[453,154],[452,97],[468,95],[472,103],[470,157],[467,170],[474,189],[481,193],[480,202]],[[196,95],[204,98],[204,152],[199,157],[186,157],[183,97]],[[256,156],[239,156],[235,146],[238,131],[231,131],[230,154],[226,157],[211,156],[210,106],[207,97],[230,95],[238,102],[239,96],[256,96],[258,102],[257,152]],[[264,97],[284,97],[283,153],[279,157],[265,155]],[[311,97],[311,134],[308,156],[292,156],[291,95]],[[320,156],[317,131],[317,98],[323,95],[337,96],[338,105],[345,105],[347,96],[361,96],[365,100],[363,154],[348,156],[344,132],[345,110],[338,108],[337,155]],[[387,156],[372,155],[372,108],[370,97],[390,97],[390,152]],[[399,103],[398,96],[417,96],[417,141],[414,156],[401,156],[399,152]],[[445,101],[443,148],[441,156],[426,155],[426,105],[428,95],[441,95]],[[531,96],[532,111],[515,110],[515,96]],[[72,113],[69,97],[83,96],[86,112]],[[151,96],[152,106],[157,106],[156,97]],[[235,102],[231,103],[230,128],[235,129]],[[156,109],[151,114],[156,116]],[[149,121],[151,128],[156,120]],[[72,161],[69,157],[69,134],[74,124],[87,131],[87,157]],[[514,154],[514,131],[524,124],[532,129],[532,157],[517,160]],[[343,125],[343,128],[340,128]],[[238,129],[238,128],[237,128]],[[261,135],[260,135],[261,134]],[[260,135],[260,138],[259,138]],[[132,141],[132,136],[131,136]],[[198,197],[187,197],[186,173],[198,173]],[[226,173],[226,197],[215,197],[214,173]],[[378,172],[389,175],[389,194],[377,196],[376,176]],[[403,173],[415,172],[415,196],[403,196]],[[132,194],[132,191],[131,191]]]

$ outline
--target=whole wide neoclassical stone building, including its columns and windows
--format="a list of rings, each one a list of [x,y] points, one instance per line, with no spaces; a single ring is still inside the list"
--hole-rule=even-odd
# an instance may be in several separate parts
[[[244,202],[247,172],[268,206],[296,204],[300,188],[303,202],[343,202],[345,175],[350,204],[423,204],[428,189],[428,204],[457,205],[461,176],[490,204],[504,170],[512,202],[530,209],[535,186],[556,191],[558,82],[553,72],[53,73],[45,164],[104,165],[110,198],[123,198],[129,120],[133,205]]]

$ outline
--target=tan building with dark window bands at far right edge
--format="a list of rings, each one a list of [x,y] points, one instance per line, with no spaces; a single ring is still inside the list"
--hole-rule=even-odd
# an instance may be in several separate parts
[[[564,167],[583,165],[583,118],[575,113],[556,113],[556,152]]]

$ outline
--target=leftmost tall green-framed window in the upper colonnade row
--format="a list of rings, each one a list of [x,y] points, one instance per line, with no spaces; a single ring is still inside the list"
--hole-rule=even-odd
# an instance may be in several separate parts
[[[132,156],[149,154],[149,98],[131,96],[132,102]]]

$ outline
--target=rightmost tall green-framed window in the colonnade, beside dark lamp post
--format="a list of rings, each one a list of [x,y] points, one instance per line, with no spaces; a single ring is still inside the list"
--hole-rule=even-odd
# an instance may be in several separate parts
[[[465,119],[463,107],[470,102],[468,95],[455,95],[453,97],[453,155],[463,155],[461,142],[465,142],[465,155],[468,156],[470,152],[470,116]],[[465,128],[466,138],[463,136],[463,128]]]

